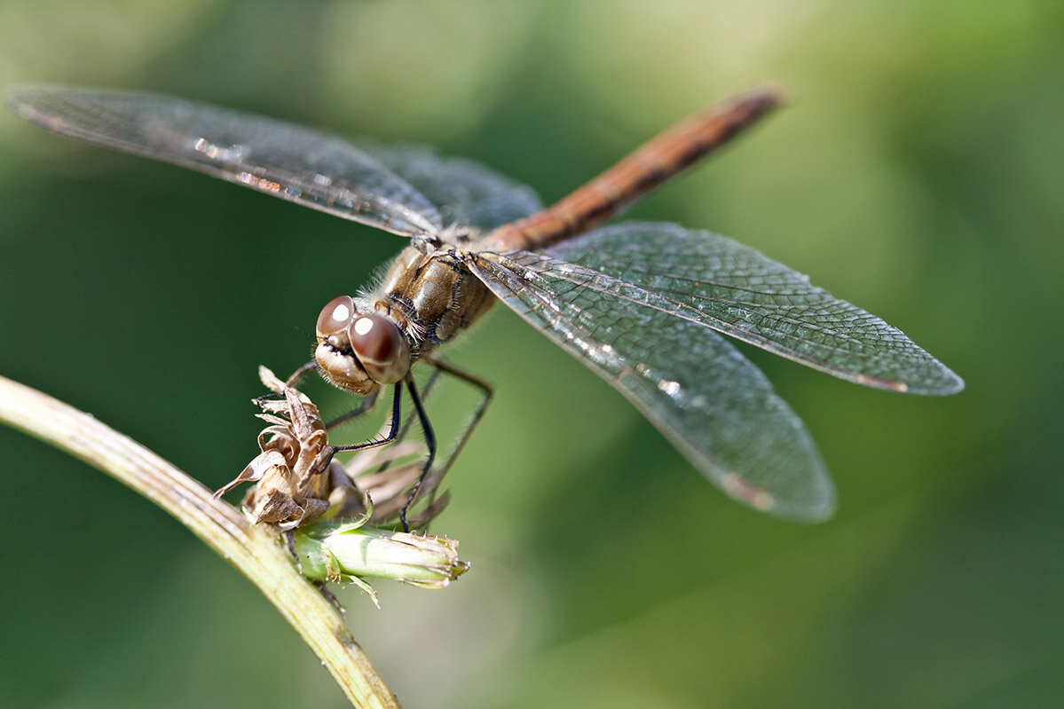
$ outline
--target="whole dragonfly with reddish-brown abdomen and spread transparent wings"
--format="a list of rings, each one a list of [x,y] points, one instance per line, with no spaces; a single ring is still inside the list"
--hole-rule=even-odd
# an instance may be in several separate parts
[[[437,349],[501,300],[616,388],[726,494],[813,522],[836,506],[825,462],[730,340],[874,389],[947,395],[963,380],[897,328],[736,241],[670,222],[605,224],[781,100],[759,87],[705,106],[544,208],[530,187],[430,148],[147,93],[9,94],[19,116],[50,131],[409,238],[379,282],[321,310],[304,367],[363,396],[359,412],[393,388],[390,433],[361,446],[395,439],[405,386],[430,448],[425,478],[435,441],[412,366],[480,383]]]

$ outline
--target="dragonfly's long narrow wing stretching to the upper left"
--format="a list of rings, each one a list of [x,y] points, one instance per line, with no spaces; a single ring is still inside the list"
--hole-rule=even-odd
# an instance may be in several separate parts
[[[30,122],[153,158],[397,234],[436,233],[436,208],[395,172],[326,133],[136,92],[28,87],[7,96]]]

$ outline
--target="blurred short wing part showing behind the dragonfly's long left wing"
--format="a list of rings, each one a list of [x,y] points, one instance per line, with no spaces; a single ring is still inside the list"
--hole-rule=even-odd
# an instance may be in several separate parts
[[[463,158],[413,145],[356,144],[439,208],[446,224],[488,232],[543,209],[531,187]]]

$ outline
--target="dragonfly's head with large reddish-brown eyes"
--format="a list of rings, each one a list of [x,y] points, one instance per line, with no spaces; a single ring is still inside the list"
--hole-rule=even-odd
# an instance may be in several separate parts
[[[393,320],[360,313],[351,296],[329,301],[318,315],[314,359],[330,382],[354,394],[394,384],[410,372],[410,344]]]

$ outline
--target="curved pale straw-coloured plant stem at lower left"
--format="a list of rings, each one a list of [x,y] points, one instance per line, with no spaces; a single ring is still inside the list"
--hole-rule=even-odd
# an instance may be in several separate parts
[[[3,377],[0,421],[81,458],[172,514],[259,587],[354,706],[398,708],[343,616],[296,572],[272,528],[253,526],[198,481],[92,415]]]

